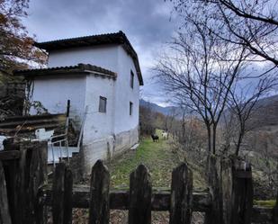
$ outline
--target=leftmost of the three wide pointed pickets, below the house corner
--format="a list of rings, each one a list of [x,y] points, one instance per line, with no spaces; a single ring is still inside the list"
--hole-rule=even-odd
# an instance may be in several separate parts
[[[109,223],[109,184],[109,171],[102,160],[97,160],[91,175],[89,224]]]

